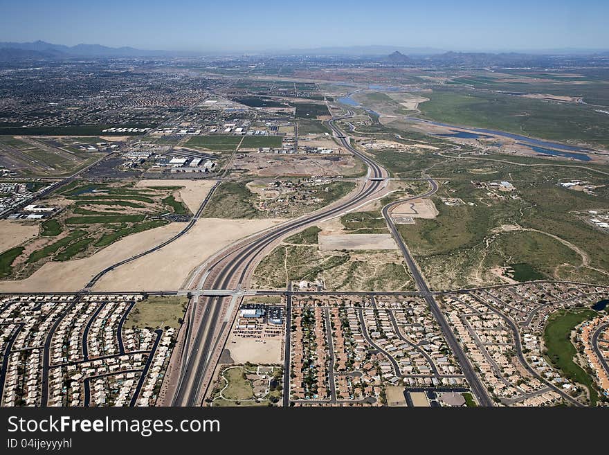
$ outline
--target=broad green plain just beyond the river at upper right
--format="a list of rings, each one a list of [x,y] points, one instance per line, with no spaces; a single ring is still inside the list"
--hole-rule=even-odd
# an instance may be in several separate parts
[[[609,148],[609,116],[592,107],[501,93],[435,89],[419,109],[425,118],[541,139]]]

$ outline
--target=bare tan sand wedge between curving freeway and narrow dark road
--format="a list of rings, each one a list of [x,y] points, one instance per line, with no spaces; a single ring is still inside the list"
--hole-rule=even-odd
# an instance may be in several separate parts
[[[179,289],[192,269],[201,265],[220,249],[235,240],[282,221],[284,220],[219,218],[198,220],[188,233],[175,242],[109,272],[98,282],[95,289],[99,291]]]

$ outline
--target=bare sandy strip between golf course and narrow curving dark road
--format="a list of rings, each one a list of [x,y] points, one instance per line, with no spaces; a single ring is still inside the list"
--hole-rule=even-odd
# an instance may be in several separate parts
[[[71,292],[82,289],[99,271],[146,251],[183,229],[171,223],[156,229],[129,235],[89,258],[67,262],[46,262],[24,280],[0,281],[0,292]]]

